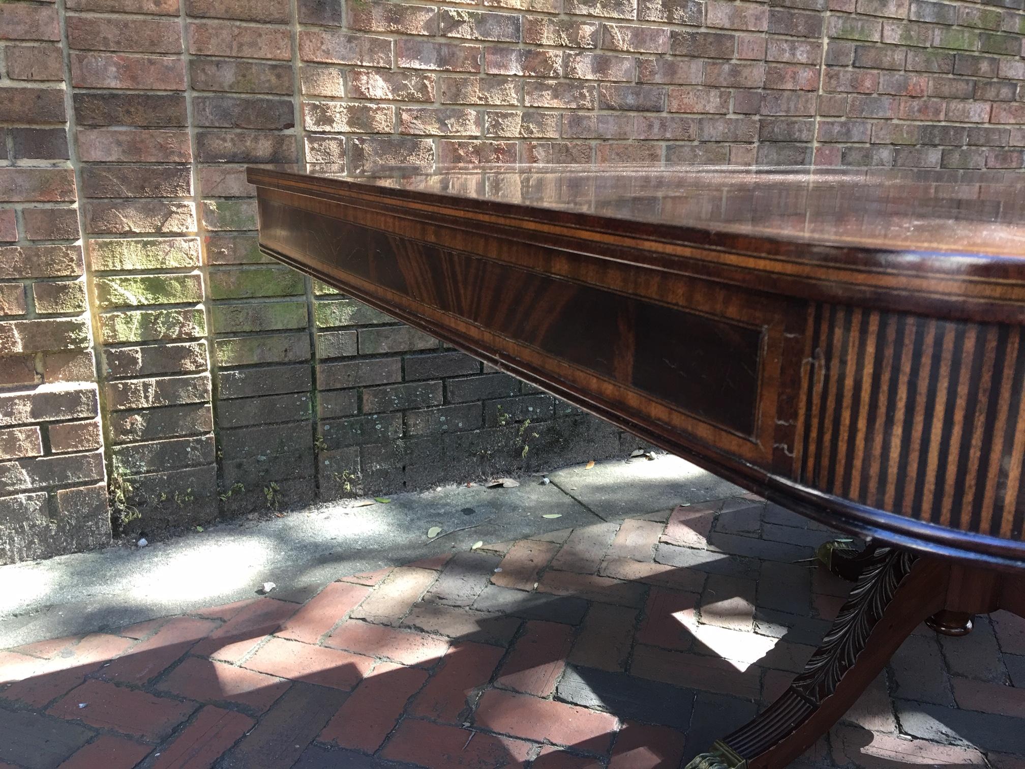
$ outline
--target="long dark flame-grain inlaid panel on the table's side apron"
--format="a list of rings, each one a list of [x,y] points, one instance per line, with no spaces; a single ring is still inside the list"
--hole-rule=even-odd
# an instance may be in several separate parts
[[[523,270],[372,228],[263,206],[304,233],[293,247],[412,301],[529,345],[753,438],[763,329]]]

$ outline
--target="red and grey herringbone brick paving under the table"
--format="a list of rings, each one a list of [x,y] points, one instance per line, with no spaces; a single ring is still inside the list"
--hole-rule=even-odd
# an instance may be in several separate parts
[[[747,495],[0,651],[0,766],[678,767],[801,670],[830,536]],[[796,766],[1022,769],[1015,685],[1025,621],[922,626]]]

